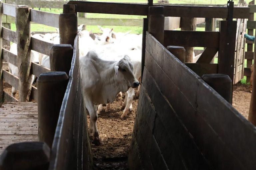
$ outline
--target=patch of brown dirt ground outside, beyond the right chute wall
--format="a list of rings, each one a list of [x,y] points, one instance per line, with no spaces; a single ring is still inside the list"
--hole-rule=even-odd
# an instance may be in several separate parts
[[[234,85],[233,107],[235,107],[246,119],[248,119],[250,101],[250,85],[242,85],[240,83]]]

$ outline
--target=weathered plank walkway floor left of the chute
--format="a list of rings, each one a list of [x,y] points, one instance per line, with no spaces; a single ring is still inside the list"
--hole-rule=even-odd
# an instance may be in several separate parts
[[[3,103],[0,107],[0,154],[12,143],[37,141],[37,103]]]

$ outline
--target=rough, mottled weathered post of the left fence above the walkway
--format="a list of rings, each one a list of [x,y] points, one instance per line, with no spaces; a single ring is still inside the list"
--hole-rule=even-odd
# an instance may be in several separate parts
[[[30,9],[28,6],[16,8],[17,56],[19,69],[19,102],[28,101],[31,92],[30,73]]]

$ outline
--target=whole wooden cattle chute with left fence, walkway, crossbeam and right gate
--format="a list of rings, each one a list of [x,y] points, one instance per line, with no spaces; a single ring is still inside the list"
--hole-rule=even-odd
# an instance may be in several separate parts
[[[228,4],[69,1],[63,13],[52,14],[1,3],[1,14],[15,17],[17,30],[0,25],[0,42],[7,40],[18,47],[17,55],[1,50],[1,169],[92,169],[77,12],[147,16],[143,19],[142,87],[130,169],[255,169],[256,128],[232,107],[229,96],[224,99],[202,77],[215,73],[234,80],[237,21],[233,19],[248,18],[250,8]],[[165,30],[165,17],[225,20],[220,21],[218,32],[176,31]],[[31,37],[30,22],[59,28],[60,44]],[[196,63],[187,63],[183,47],[205,50]],[[51,70],[30,62],[31,50],[50,56]],[[210,63],[217,52],[218,63]],[[17,66],[19,77],[3,70],[2,60]],[[38,77],[36,87],[28,83],[32,75]],[[19,89],[18,99],[3,90],[3,80]]]

